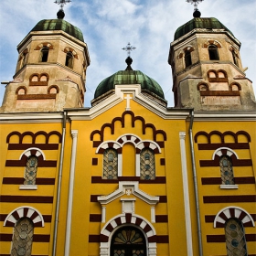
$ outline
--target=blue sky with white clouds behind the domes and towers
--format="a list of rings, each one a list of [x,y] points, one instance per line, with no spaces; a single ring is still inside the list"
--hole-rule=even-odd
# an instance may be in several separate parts
[[[41,19],[56,18],[59,6],[54,0],[1,0],[0,81],[15,74],[18,43]],[[18,3],[18,4],[17,4]],[[186,0],[72,0],[65,5],[65,19],[80,27],[88,44],[91,65],[87,69],[85,106],[91,106],[94,91],[104,78],[126,68],[128,42],[133,69],[155,79],[172,107],[172,73],[167,63],[170,43],[177,27],[193,16]],[[256,84],[256,1],[204,0],[202,17],[216,17],[241,42],[240,56],[247,77]],[[256,86],[254,84],[254,91]],[[0,85],[0,102],[5,85]]]

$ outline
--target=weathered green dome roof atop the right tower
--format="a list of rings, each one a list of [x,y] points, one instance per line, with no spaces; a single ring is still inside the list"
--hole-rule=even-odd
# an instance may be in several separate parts
[[[176,29],[175,40],[179,37],[183,37],[195,28],[224,29],[224,31],[234,36],[233,33],[215,17],[194,17],[186,24]]]

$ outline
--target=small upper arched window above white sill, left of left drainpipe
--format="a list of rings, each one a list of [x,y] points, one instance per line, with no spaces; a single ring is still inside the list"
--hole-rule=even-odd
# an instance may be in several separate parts
[[[27,158],[24,185],[35,185],[37,178],[37,156],[31,155]]]

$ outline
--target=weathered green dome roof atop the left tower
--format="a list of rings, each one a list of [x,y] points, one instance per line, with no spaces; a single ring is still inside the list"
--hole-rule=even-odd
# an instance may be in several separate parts
[[[31,31],[48,31],[48,30],[62,30],[72,37],[76,37],[83,42],[83,36],[80,28],[71,25],[64,19],[43,19]]]

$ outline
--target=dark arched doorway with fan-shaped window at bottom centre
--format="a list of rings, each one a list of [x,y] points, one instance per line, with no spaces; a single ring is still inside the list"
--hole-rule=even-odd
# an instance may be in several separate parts
[[[146,256],[146,242],[140,229],[125,226],[112,236],[111,256]]]

